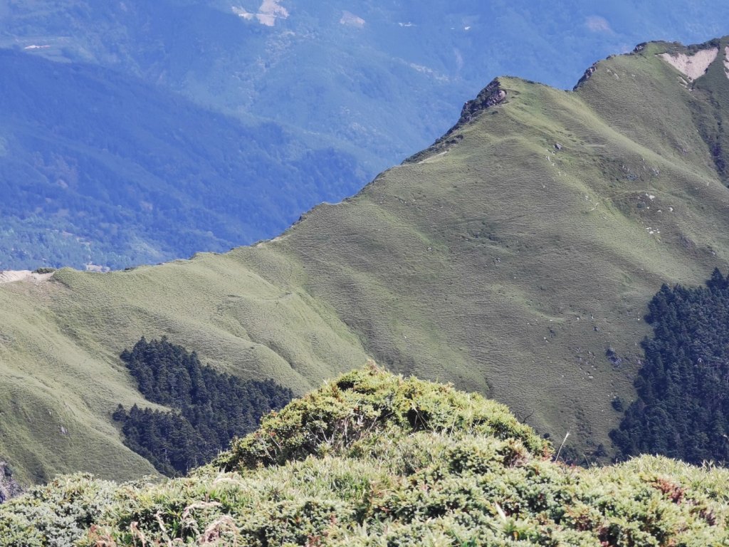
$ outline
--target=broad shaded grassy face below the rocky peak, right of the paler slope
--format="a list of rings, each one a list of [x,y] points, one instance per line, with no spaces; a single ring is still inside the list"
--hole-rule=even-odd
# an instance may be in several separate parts
[[[452,133],[458,144],[315,209],[281,245],[381,362],[603,442],[647,298],[727,257],[729,193],[696,134],[706,104],[655,58],[667,47],[600,63],[576,93],[500,79],[505,103]]]

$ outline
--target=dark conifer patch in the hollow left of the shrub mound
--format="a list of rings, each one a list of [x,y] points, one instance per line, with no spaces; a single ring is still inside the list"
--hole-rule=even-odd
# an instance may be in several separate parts
[[[117,407],[125,444],[168,476],[210,461],[234,437],[255,430],[263,414],[293,394],[272,380],[241,380],[202,365],[182,346],[141,338],[121,354],[144,397],[172,411]]]

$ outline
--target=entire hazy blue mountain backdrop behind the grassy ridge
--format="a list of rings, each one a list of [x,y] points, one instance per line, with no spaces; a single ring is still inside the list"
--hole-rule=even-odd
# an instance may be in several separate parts
[[[561,88],[705,0],[0,0],[0,268],[274,236],[440,136],[499,74]]]

